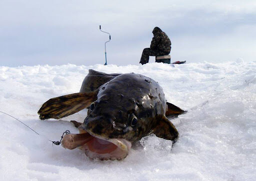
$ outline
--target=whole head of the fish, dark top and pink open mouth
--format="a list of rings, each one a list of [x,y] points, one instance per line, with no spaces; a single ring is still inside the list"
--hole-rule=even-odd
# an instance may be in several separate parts
[[[121,160],[128,155],[131,142],[140,139],[137,134],[142,125],[136,106],[125,99],[116,104],[117,97],[101,96],[89,106],[79,128],[93,137],[81,147],[89,158]]]

